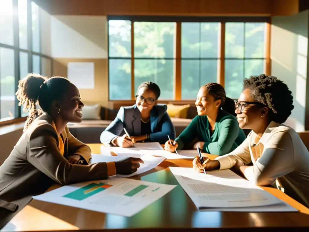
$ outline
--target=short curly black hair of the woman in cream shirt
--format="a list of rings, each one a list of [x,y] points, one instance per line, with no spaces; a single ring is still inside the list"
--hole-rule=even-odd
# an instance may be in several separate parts
[[[292,92],[275,76],[250,76],[243,80],[243,88],[250,89],[254,101],[270,109],[270,120],[274,122],[285,122],[294,109]]]

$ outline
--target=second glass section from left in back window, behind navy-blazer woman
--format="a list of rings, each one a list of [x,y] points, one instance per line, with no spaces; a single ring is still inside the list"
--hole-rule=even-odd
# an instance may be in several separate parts
[[[175,28],[176,23],[134,22],[134,93],[152,81],[160,99],[173,98]]]

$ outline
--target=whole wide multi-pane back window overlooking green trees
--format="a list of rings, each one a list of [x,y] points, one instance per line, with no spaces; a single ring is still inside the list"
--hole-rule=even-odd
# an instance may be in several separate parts
[[[268,18],[164,19],[109,17],[109,100],[133,100],[144,81],[160,100],[193,100],[209,82],[236,99],[244,78],[265,73]]]

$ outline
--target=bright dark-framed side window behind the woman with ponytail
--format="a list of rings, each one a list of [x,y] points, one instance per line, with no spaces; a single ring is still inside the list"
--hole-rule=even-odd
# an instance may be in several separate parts
[[[40,51],[40,11],[31,0],[0,1],[0,121],[28,115],[15,96],[20,79],[52,75],[52,59]]]

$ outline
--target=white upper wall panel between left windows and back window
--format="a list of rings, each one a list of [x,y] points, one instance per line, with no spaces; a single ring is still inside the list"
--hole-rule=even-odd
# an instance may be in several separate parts
[[[107,58],[106,35],[106,16],[52,16],[52,56],[53,58]]]

